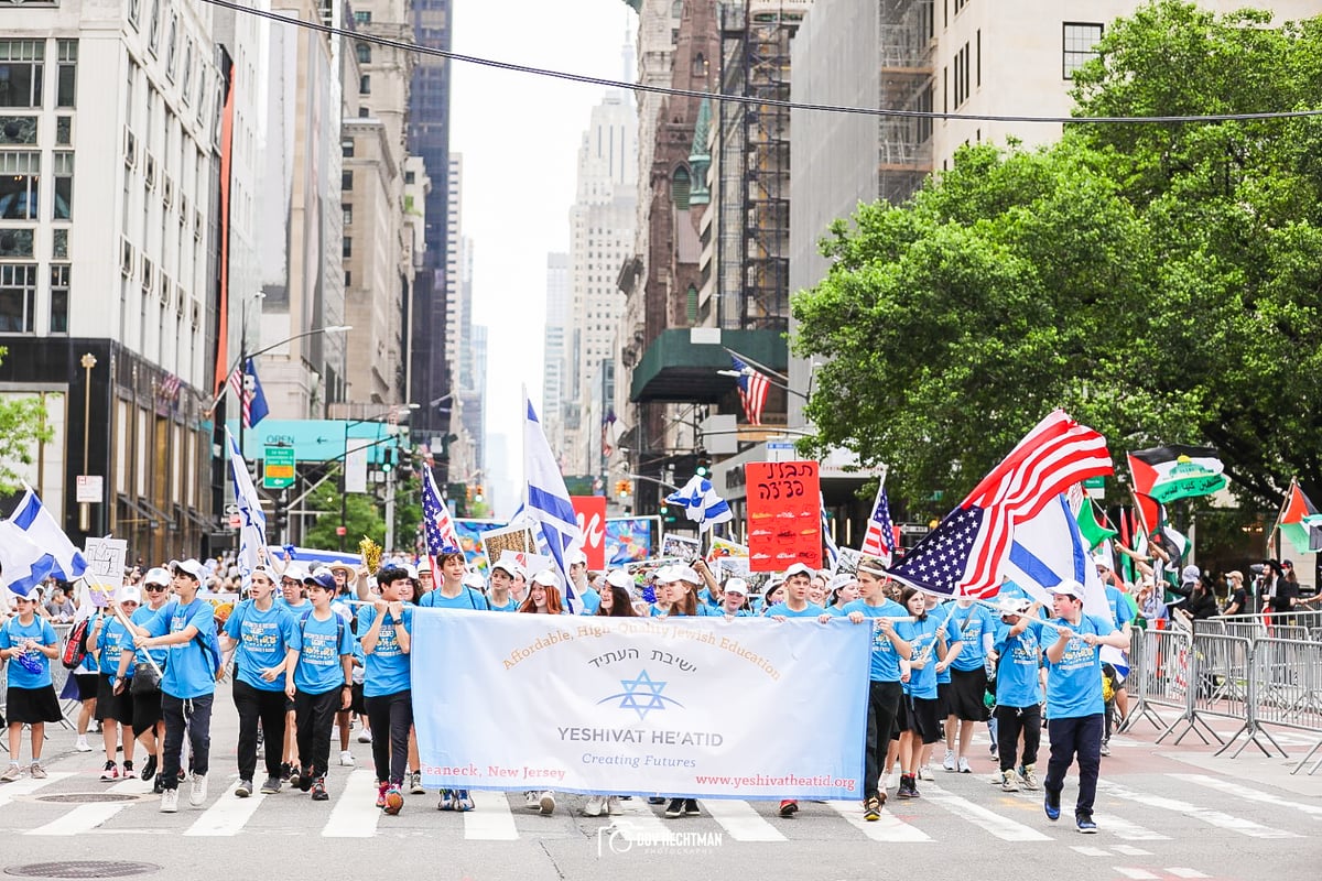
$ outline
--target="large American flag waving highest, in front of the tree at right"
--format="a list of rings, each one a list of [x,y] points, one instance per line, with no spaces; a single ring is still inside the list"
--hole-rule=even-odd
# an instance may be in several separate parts
[[[1058,409],[888,572],[931,593],[995,596],[1015,523],[1036,516],[1071,483],[1112,470],[1107,439]]]

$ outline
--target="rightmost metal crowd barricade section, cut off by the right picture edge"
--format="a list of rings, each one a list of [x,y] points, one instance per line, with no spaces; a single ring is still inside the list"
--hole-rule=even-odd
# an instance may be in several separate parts
[[[1253,651],[1249,686],[1253,692],[1251,724],[1259,728],[1263,724],[1280,725],[1319,736],[1318,742],[1292,771],[1297,774],[1322,749],[1322,643],[1260,639]],[[1269,734],[1268,738],[1270,740]],[[1284,749],[1281,754],[1286,756]],[[1322,767],[1322,758],[1309,774],[1318,767]]]

